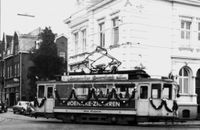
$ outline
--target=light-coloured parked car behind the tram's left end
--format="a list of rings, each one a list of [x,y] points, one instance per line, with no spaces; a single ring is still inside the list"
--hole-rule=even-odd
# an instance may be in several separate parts
[[[30,114],[32,111],[32,104],[28,101],[18,101],[17,105],[13,106],[13,113]]]

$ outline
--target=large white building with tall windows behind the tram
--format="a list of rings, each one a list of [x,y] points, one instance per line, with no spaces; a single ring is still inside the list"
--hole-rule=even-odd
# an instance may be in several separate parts
[[[180,84],[179,116],[196,118],[200,0],[77,1],[80,10],[65,20],[72,71],[96,46],[105,47],[122,62],[120,70],[142,65],[152,77],[171,73]]]

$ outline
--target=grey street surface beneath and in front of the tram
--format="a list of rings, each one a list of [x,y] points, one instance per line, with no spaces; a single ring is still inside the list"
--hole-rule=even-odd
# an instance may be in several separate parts
[[[62,123],[56,119],[31,118],[13,114],[12,111],[0,113],[0,130],[200,130],[200,123],[141,123],[138,126],[104,125],[104,124],[72,124]]]

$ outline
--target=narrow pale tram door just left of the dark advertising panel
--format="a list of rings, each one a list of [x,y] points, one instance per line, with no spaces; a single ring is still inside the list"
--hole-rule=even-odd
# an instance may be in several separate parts
[[[45,103],[45,112],[46,113],[52,113],[53,112],[53,107],[55,105],[55,100],[54,100],[54,85],[47,85],[46,86],[46,103]]]

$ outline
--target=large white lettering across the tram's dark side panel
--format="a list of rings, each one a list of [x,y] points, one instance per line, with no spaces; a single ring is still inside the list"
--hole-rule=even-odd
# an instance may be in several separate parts
[[[101,107],[101,106],[104,106],[104,107],[120,107],[120,102],[117,102],[117,101],[110,101],[110,102],[107,102],[105,103],[104,105],[98,103],[97,101],[88,101],[84,104],[82,103],[79,103],[78,101],[68,101],[67,102],[67,106],[71,106],[71,107],[74,107],[74,106],[85,106],[85,107]]]

